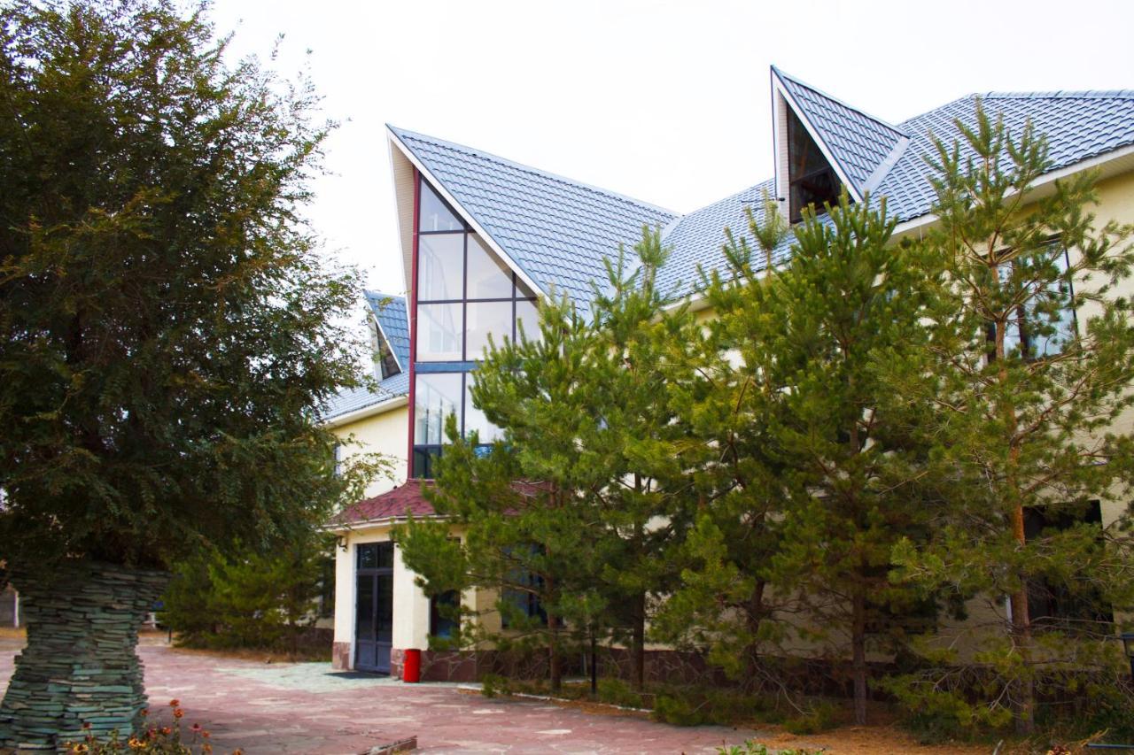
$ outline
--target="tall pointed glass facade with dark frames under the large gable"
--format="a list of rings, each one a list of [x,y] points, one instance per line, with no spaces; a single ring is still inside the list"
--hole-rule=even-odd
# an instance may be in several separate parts
[[[433,476],[446,417],[479,443],[500,438],[473,406],[475,363],[491,343],[539,336],[535,295],[424,179],[418,193],[413,476]]]

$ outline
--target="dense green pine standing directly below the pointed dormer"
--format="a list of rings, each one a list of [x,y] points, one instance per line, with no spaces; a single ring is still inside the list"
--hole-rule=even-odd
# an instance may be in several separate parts
[[[902,537],[925,537],[914,483],[925,449],[891,409],[881,367],[925,340],[929,287],[909,249],[891,244],[896,220],[844,193],[826,218],[805,213],[770,303],[770,356],[788,368],[770,431],[781,475],[793,481],[779,523],[771,582],[803,602],[818,637],[849,642],[855,721],[866,722],[870,645],[895,652],[926,628],[932,606],[889,583]]]

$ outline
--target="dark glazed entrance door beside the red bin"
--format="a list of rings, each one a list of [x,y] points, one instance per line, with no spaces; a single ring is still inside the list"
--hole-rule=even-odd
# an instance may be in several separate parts
[[[389,673],[392,639],[393,543],[366,543],[355,567],[355,668]]]

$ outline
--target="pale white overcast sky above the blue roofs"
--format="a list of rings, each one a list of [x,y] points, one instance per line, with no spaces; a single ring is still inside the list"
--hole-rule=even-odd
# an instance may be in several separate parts
[[[972,92],[1134,88],[1134,3],[215,0],[238,53],[311,71],[333,172],[311,209],[405,288],[386,122],[688,212],[771,177],[776,65],[898,122]]]

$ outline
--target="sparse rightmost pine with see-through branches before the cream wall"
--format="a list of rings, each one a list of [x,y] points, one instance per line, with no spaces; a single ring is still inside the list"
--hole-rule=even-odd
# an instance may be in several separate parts
[[[1100,529],[1085,515],[1129,494],[1134,253],[1129,227],[1095,221],[1092,175],[1036,190],[1046,139],[979,102],[976,116],[937,143],[939,223],[921,255],[939,282],[932,339],[890,376],[949,469],[931,546],[903,544],[896,578],[980,597],[991,618],[971,625],[974,656],[930,653],[895,688],[919,712],[1029,732],[1036,685],[1073,689],[1107,668],[1109,613],[1132,604],[1126,516]],[[1070,612],[1036,605],[1043,592]],[[972,697],[957,680],[974,660]]]

